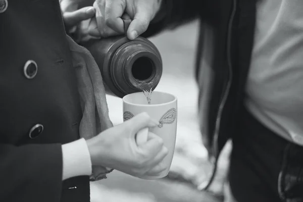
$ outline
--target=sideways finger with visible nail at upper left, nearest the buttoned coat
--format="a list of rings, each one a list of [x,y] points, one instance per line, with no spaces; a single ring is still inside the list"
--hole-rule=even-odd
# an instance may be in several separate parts
[[[63,13],[63,18],[67,26],[74,26],[80,23],[82,20],[87,20],[95,15],[95,9],[93,7],[84,7],[82,9]]]

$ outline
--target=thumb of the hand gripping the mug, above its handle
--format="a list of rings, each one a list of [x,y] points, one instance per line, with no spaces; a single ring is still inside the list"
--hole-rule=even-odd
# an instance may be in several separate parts
[[[126,121],[125,123],[131,126],[134,134],[143,128],[155,127],[159,125],[159,122],[151,119],[146,112],[134,116],[130,120]]]

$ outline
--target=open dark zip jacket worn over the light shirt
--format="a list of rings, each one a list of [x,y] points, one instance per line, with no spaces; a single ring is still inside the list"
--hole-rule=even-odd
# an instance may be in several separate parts
[[[163,0],[145,37],[200,20],[196,53],[203,143],[217,160],[237,132],[255,33],[257,0]]]

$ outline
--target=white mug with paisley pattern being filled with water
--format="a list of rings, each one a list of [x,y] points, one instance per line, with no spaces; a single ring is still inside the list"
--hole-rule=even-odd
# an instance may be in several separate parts
[[[140,178],[163,178],[168,175],[174,156],[177,133],[177,98],[166,92],[154,91],[151,94],[149,105],[143,92],[135,92],[123,97],[123,121],[142,112],[146,112],[151,118],[159,121],[158,127],[151,128],[150,132],[163,139],[164,145],[168,148],[168,155],[162,162],[165,164],[166,170],[158,176],[140,176]],[[147,141],[147,132],[148,129],[145,128],[137,133],[137,143]]]

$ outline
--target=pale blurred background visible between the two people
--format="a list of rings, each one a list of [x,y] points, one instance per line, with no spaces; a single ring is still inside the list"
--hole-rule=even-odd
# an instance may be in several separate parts
[[[222,187],[227,167],[228,148],[221,157],[219,175],[211,190],[200,191],[212,166],[207,161],[197,120],[198,89],[194,79],[194,61],[198,22],[149,38],[159,49],[163,60],[163,76],[156,88],[178,98],[177,140],[168,177],[142,180],[118,171],[97,182],[101,201],[115,202],[207,202],[222,201]],[[122,99],[107,95],[113,124],[122,123]]]

